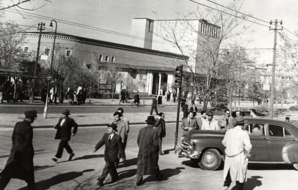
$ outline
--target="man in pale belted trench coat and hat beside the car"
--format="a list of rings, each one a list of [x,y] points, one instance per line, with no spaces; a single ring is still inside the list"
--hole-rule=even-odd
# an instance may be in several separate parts
[[[234,128],[228,129],[222,140],[225,146],[224,167],[223,167],[223,189],[228,189],[231,181],[236,181],[235,189],[243,189],[246,181],[248,158],[250,157],[251,143],[249,135],[243,130],[243,116],[236,116]]]

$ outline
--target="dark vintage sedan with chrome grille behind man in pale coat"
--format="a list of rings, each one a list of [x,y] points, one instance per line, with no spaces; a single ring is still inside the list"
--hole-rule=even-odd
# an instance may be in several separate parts
[[[279,120],[245,118],[252,144],[250,163],[286,163],[298,170],[298,127]],[[225,130],[193,130],[181,137],[175,152],[202,169],[215,170],[224,161]]]

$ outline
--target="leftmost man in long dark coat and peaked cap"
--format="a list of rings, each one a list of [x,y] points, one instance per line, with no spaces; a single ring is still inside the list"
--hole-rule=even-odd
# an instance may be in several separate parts
[[[4,169],[0,173],[0,189],[3,190],[11,178],[25,180],[27,189],[35,189],[32,145],[32,123],[37,111],[25,111],[25,119],[14,126],[11,140],[12,147]]]

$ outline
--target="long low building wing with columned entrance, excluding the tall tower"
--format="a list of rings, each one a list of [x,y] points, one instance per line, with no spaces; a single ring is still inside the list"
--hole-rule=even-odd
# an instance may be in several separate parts
[[[24,35],[23,51],[37,49],[38,32],[19,32]],[[40,52],[42,59],[50,61],[54,33],[42,32]],[[56,34],[56,47],[64,49],[65,57],[76,56],[80,60],[90,61],[93,53],[98,55],[100,67],[116,65],[123,69],[126,80],[142,80],[145,89],[139,86],[138,91],[148,94],[158,94],[165,91],[174,80],[174,69],[183,64],[187,56],[168,51],[153,50],[150,48],[112,43],[108,41],[85,38],[81,36]],[[41,61],[42,62],[42,61]],[[119,85],[116,92],[120,91]]]

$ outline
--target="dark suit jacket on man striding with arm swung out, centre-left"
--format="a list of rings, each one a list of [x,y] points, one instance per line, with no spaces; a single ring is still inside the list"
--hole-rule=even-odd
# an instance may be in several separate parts
[[[125,158],[124,151],[122,148],[121,136],[114,134],[113,137],[108,141],[108,133],[104,133],[101,140],[95,145],[95,149],[99,149],[103,144],[104,149],[104,160],[109,162],[115,162],[118,158],[118,151],[120,157]]]

